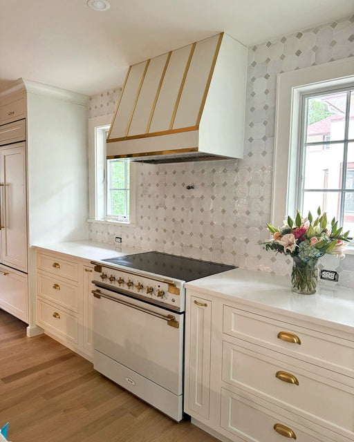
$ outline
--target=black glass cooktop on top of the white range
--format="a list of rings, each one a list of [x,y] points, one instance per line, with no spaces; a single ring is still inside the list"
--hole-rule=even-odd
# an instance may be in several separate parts
[[[150,273],[156,273],[185,282],[236,268],[230,265],[194,260],[192,258],[169,255],[158,251],[136,253],[136,255],[120,256],[104,261],[111,262],[111,264],[131,267],[131,269],[149,271]]]

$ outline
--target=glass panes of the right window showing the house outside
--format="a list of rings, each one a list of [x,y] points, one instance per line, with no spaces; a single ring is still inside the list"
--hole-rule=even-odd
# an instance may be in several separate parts
[[[303,99],[299,208],[321,206],[354,234],[354,87]]]

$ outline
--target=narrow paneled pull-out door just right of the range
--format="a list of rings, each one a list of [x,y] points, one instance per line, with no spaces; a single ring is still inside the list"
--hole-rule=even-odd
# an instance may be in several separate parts
[[[189,309],[189,410],[209,419],[212,302],[191,296]]]

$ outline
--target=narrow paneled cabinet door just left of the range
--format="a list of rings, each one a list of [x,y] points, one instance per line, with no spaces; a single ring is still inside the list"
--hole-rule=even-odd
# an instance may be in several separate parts
[[[84,266],[84,344],[83,347],[93,356],[93,267]]]

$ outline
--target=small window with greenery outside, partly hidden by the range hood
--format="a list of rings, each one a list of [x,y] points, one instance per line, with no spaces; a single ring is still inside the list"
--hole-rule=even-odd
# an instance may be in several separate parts
[[[132,224],[135,205],[135,164],[106,159],[111,115],[89,119],[90,218]]]

